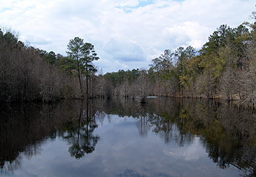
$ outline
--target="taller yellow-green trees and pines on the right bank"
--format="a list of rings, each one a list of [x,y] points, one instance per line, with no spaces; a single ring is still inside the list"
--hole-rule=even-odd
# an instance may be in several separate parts
[[[255,14],[254,12],[253,19],[256,20]],[[256,58],[253,52],[256,47],[255,31],[255,23],[244,23],[237,28],[222,25],[209,36],[209,41],[203,45],[197,56],[196,49],[191,46],[179,47],[175,52],[165,50],[152,60],[148,69],[154,94],[167,95],[171,92],[213,98],[222,94],[223,89],[228,92],[224,93],[227,95],[230,92],[240,92],[238,88],[230,90],[227,83],[230,83],[228,79],[232,79],[232,82],[238,82],[236,85],[246,87],[246,76],[235,73],[246,75],[248,69],[252,68],[253,58]],[[239,80],[238,77],[245,80]]]

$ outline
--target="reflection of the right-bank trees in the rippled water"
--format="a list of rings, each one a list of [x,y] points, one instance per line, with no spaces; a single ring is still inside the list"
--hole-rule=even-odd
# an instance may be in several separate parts
[[[132,116],[139,134],[146,137],[150,129],[166,144],[185,146],[196,137],[219,168],[230,165],[243,176],[256,176],[256,121],[251,112],[236,106],[209,100],[159,98],[144,106],[133,102],[119,104],[108,114]],[[117,107],[120,107],[117,109]],[[139,109],[138,109],[139,108]],[[117,111],[118,110],[118,111]]]

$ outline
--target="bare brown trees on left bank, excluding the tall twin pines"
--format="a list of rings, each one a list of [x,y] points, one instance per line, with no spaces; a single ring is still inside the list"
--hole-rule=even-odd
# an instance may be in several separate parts
[[[75,97],[75,79],[58,69],[60,55],[18,41],[12,31],[0,30],[1,102],[49,102]]]

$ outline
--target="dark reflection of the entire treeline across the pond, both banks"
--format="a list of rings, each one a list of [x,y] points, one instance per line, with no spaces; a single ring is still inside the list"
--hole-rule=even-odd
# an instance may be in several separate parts
[[[203,148],[219,168],[232,166],[243,176],[256,175],[256,121],[253,113],[219,102],[172,98],[148,98],[147,104],[117,98],[53,105],[1,106],[1,175],[13,174],[22,168],[22,158],[31,159],[40,154],[45,142],[53,142],[58,137],[68,145],[71,157],[86,158],[87,154],[94,153],[101,141],[95,130],[99,125],[104,126],[104,120],[111,124],[113,115],[122,117],[120,119],[133,117],[142,139],[153,132],[167,146],[175,144],[180,147],[179,151],[166,151],[167,156],[196,161]],[[117,134],[111,136],[117,137]],[[159,172],[153,173],[161,176]],[[129,168],[116,175],[146,176]]]

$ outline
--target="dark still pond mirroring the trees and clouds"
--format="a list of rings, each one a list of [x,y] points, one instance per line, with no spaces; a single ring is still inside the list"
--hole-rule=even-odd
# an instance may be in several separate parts
[[[205,100],[1,106],[0,176],[256,176],[256,119]]]

